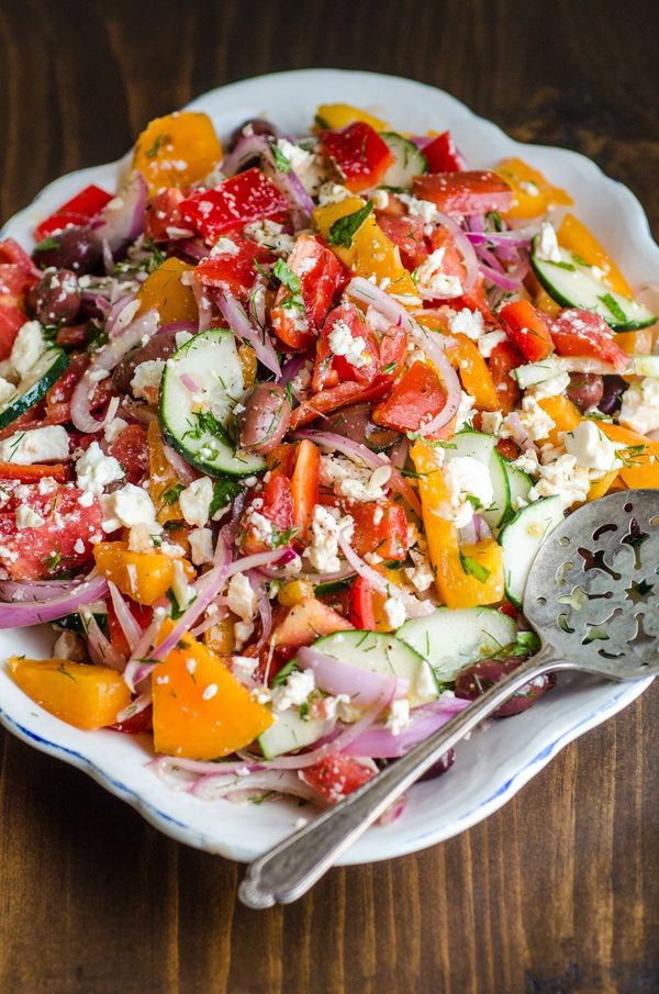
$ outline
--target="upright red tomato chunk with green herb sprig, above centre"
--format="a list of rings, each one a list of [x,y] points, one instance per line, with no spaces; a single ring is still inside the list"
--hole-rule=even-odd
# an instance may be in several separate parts
[[[272,330],[284,345],[308,348],[343,282],[344,267],[320,238],[309,234],[298,236],[287,264],[300,281],[299,294],[304,311],[302,313],[301,308],[294,305],[291,290],[282,284],[270,315]]]

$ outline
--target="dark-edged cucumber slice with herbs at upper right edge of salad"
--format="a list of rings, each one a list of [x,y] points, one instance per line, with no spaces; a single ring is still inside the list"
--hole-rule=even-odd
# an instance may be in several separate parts
[[[615,293],[593,275],[591,266],[560,248],[561,261],[549,263],[536,255],[537,236],[534,239],[530,264],[538,280],[554,300],[565,308],[583,308],[594,311],[619,332],[645,328],[657,317],[648,309],[622,293]]]

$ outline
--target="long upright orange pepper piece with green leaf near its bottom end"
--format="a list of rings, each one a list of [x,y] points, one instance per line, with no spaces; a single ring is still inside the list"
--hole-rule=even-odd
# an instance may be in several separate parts
[[[501,546],[493,538],[487,538],[460,548],[458,529],[438,513],[442,505],[448,503],[449,495],[436,449],[417,439],[411,456],[420,473],[423,523],[442,601],[447,607],[474,607],[501,601],[504,594]]]

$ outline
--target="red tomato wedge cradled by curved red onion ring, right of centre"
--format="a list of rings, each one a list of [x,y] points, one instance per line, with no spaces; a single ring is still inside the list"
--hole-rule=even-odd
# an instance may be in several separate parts
[[[372,421],[395,432],[417,432],[443,410],[446,389],[426,362],[413,362],[391,393],[372,412]]]

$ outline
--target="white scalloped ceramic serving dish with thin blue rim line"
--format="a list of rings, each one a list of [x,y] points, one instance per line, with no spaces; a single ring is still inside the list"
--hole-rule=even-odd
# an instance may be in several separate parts
[[[283,130],[303,133],[320,103],[346,102],[379,113],[392,126],[412,133],[449,127],[473,168],[521,156],[538,167],[577,201],[576,211],[610,248],[646,301],[657,306],[651,280],[659,268],[644,211],[625,187],[608,179],[589,159],[562,148],[521,145],[499,127],[477,118],[448,93],[432,87],[370,72],[308,69],[263,76],[222,87],[190,107],[206,111],[223,136],[246,118],[270,118]],[[112,190],[126,158],[81,169],[46,187],[2,231],[2,236],[32,245],[34,225],[82,186],[97,182]],[[11,654],[47,656],[53,641],[46,629],[0,633],[0,659]],[[649,685],[606,684],[573,677],[535,707],[495,722],[457,749],[446,777],[411,792],[398,822],[369,831],[340,860],[365,863],[414,852],[449,838],[505,804],[559,749],[630,704]],[[248,861],[289,834],[300,809],[288,802],[252,805],[204,802],[165,786],[145,763],[148,741],[112,731],[86,733],[41,711],[0,668],[0,721],[24,741],[77,766],[107,790],[179,841]]]

